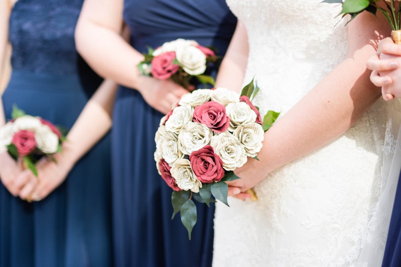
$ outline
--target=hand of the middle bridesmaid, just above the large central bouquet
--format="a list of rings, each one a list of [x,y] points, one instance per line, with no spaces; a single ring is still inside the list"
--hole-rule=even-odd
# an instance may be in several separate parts
[[[158,80],[147,76],[141,76],[137,86],[143,99],[152,108],[163,114],[169,113],[181,96],[192,89],[185,89],[170,79]]]

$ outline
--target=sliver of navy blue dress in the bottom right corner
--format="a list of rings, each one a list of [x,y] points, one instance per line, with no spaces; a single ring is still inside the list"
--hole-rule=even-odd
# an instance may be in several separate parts
[[[401,173],[398,178],[382,267],[401,266]]]

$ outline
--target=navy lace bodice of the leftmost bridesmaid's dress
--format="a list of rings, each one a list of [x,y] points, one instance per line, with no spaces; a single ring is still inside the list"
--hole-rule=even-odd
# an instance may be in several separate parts
[[[14,70],[75,73],[74,31],[83,0],[19,0],[11,13]]]

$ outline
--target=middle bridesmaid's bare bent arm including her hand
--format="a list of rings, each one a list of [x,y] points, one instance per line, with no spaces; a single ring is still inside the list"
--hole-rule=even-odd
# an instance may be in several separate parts
[[[85,0],[78,20],[77,50],[99,75],[138,90],[154,109],[167,114],[188,91],[172,80],[140,75],[143,55],[119,35],[123,0]]]

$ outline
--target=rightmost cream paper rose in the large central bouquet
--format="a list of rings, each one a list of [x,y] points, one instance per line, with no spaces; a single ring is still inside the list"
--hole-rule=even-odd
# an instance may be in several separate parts
[[[245,154],[255,157],[262,148],[264,133],[262,126],[255,122],[237,127],[232,134],[238,138],[245,148]]]

